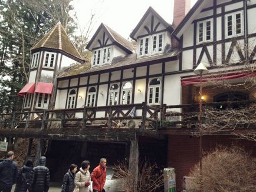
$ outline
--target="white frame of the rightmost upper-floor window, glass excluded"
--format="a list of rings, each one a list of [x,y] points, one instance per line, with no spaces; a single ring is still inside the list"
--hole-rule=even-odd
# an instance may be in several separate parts
[[[240,14],[240,25],[241,25],[241,31],[240,33],[237,33],[237,21],[236,21],[236,15]],[[232,17],[232,35],[228,35],[228,17]],[[244,35],[244,13],[243,11],[237,11],[233,12],[231,14],[225,15],[225,37],[230,38],[230,37],[237,37],[240,35]]]

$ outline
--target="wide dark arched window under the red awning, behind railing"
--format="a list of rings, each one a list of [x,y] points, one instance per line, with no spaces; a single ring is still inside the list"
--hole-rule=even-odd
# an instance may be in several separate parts
[[[242,101],[248,100],[249,95],[245,92],[230,91],[222,92],[221,94],[215,95],[214,102],[225,102],[225,101]],[[225,110],[226,108],[239,108],[245,107],[244,104],[219,104],[216,105],[216,108],[219,110]]]

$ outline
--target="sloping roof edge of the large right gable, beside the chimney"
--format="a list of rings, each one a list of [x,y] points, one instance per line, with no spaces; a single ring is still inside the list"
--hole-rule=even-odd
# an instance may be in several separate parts
[[[180,22],[180,24],[178,25],[178,27],[176,27],[176,29],[173,31],[172,35],[175,36],[175,38],[180,38],[181,36],[181,31],[183,28],[185,28],[186,24],[191,24],[191,22],[193,21],[196,12],[200,12],[202,9],[202,3],[203,2],[207,2],[204,0],[198,0],[195,5],[193,5],[193,7],[190,9],[190,11],[188,12],[188,14],[186,14],[185,18],[182,19],[182,21]]]

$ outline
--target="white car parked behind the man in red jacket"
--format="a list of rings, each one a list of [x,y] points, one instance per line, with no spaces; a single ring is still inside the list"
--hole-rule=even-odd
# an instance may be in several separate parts
[[[122,178],[114,178],[114,169],[111,167],[107,167],[107,176],[106,176],[106,182],[104,185],[104,190],[106,192],[122,192],[125,191],[123,186],[123,180]],[[93,182],[91,182],[90,186],[91,191],[93,191]]]

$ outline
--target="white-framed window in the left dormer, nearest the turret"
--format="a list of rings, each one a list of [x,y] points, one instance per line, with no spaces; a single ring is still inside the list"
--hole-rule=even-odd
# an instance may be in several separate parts
[[[93,51],[92,67],[110,64],[111,62],[111,47],[104,47]]]

